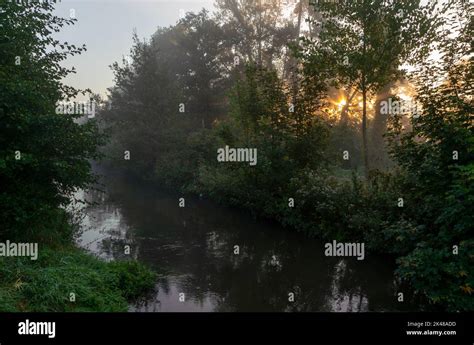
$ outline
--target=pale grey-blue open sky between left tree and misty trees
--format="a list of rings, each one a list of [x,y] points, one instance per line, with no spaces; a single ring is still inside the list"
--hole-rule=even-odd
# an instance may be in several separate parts
[[[180,13],[213,11],[213,0],[62,0],[55,14],[67,18],[74,10],[77,22],[63,27],[54,35],[58,40],[87,51],[69,57],[63,66],[76,68],[77,73],[65,79],[67,85],[90,88],[101,96],[113,85],[113,62],[122,61],[132,47],[132,33],[149,39],[158,27],[175,24]]]

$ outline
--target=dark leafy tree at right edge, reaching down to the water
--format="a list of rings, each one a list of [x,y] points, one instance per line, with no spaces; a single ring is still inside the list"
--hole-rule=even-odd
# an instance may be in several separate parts
[[[404,217],[415,231],[400,276],[423,297],[449,310],[474,308],[474,113],[472,31],[469,4],[457,1],[435,48],[440,59],[414,73],[421,116],[411,131],[400,118],[390,131],[392,154],[404,176],[409,205]],[[471,5],[472,6],[472,5]],[[453,33],[456,33],[453,35]],[[414,206],[416,205],[416,206]]]

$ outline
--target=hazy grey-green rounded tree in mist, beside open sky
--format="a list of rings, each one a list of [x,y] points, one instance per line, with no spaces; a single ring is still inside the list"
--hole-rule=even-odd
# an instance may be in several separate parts
[[[112,66],[111,108],[102,114],[113,137],[110,156],[129,150],[134,164],[118,161],[142,176],[192,181],[202,153],[196,136],[223,117],[227,106],[233,57],[223,35],[203,10],[159,28],[149,41],[135,36],[131,63]]]

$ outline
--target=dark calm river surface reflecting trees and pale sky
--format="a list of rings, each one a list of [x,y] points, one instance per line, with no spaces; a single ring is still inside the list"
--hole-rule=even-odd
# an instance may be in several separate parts
[[[166,271],[130,311],[393,311],[393,263],[324,256],[324,243],[248,213],[104,178],[88,191],[81,246],[105,259],[129,256]],[[234,254],[234,246],[240,254]],[[289,302],[289,293],[295,301]],[[184,302],[179,301],[184,293]]]

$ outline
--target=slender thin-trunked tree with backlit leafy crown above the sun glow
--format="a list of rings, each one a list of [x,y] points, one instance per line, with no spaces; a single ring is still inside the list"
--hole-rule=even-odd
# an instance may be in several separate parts
[[[304,63],[328,71],[330,85],[362,95],[362,146],[366,176],[369,171],[367,104],[385,85],[403,75],[405,62],[427,53],[442,23],[436,3],[418,1],[318,1],[321,31],[303,41]]]

